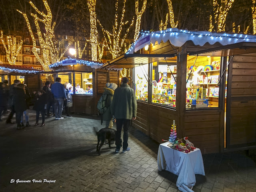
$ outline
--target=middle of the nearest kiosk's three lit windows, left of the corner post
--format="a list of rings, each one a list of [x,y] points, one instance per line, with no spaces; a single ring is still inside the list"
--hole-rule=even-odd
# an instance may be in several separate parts
[[[152,103],[176,107],[176,62],[153,63]]]

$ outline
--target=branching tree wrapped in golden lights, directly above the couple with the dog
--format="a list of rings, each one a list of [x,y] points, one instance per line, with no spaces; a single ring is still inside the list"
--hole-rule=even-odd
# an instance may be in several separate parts
[[[124,6],[122,8],[122,16],[120,19],[120,24],[118,24],[118,0],[116,1],[116,14],[115,14],[115,25],[112,26],[112,33],[105,30],[98,20],[98,23],[100,24],[102,28],[102,32],[104,34],[104,38],[107,43],[108,50],[110,50],[110,53],[112,54],[113,59],[118,57],[122,49],[124,48],[125,45],[125,39],[128,35],[128,32],[130,31],[130,28],[132,27],[134,23],[134,17],[132,19],[132,22],[130,26],[126,29],[126,32],[124,33],[123,38],[121,38],[121,33],[122,33],[122,27],[126,25],[129,21],[124,22],[124,12],[125,12],[125,3],[126,0],[124,0]]]

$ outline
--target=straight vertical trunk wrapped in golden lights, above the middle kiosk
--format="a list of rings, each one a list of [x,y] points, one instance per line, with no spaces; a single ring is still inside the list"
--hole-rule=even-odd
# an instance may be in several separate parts
[[[98,45],[98,30],[97,30],[97,20],[96,20],[96,0],[87,0],[88,8],[90,11],[90,42],[92,45],[92,60],[97,61],[97,45]]]

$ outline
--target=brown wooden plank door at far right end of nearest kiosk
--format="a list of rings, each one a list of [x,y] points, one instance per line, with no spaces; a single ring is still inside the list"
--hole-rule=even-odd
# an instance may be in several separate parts
[[[226,148],[256,146],[256,54],[234,56],[228,68]]]

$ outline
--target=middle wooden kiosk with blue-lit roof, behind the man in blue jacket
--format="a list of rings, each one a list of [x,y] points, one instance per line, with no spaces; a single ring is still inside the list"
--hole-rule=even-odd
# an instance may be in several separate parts
[[[62,84],[68,82],[72,86],[71,112],[97,115],[97,103],[106,83],[120,84],[118,71],[100,69],[101,65],[99,62],[67,58],[49,66],[53,69],[54,80],[60,77]]]

